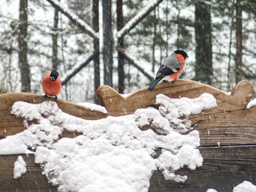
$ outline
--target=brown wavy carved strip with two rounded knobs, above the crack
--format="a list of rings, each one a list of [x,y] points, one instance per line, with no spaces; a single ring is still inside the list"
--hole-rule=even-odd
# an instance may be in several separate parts
[[[136,109],[147,108],[156,104],[156,95],[163,93],[170,98],[196,98],[203,93],[214,95],[218,107],[203,111],[204,113],[219,113],[236,109],[244,109],[253,95],[253,84],[249,81],[239,82],[230,95],[207,84],[184,79],[177,79],[174,83],[161,82],[154,90],[142,88],[129,97],[124,98],[110,86],[103,85],[97,90],[100,102],[104,104],[111,116],[121,116],[134,113]]]

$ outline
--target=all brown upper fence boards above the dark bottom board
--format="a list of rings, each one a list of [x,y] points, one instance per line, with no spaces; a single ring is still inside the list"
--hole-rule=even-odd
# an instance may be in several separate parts
[[[143,88],[124,98],[109,86],[101,86],[97,93],[108,114],[92,111],[77,104],[58,99],[58,106],[65,113],[88,120],[105,118],[108,115],[121,116],[134,113],[136,109],[147,108],[156,103],[156,95],[164,93],[168,97],[195,98],[202,93],[211,93],[216,97],[217,108],[191,115],[189,119],[200,132],[200,146],[248,145],[256,143],[255,116],[256,108],[246,109],[252,97],[253,86],[248,81],[241,81],[228,95],[216,88],[188,80],[177,80],[175,83],[160,83],[152,91]],[[31,103],[44,101],[41,95],[29,93],[8,93],[0,95],[0,138],[24,131],[21,118],[10,114],[14,102],[24,100]],[[28,122],[28,125],[35,124]],[[148,129],[148,127],[143,127]],[[81,133],[63,132],[62,137],[74,138]]]

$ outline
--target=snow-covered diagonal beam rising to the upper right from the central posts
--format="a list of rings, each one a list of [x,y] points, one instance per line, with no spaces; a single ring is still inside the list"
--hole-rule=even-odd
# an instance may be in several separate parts
[[[47,0],[48,1],[48,0]],[[156,6],[158,6],[163,0],[154,0],[152,3],[148,4],[148,6],[145,6],[143,10],[141,10],[137,15],[135,15],[127,24],[122,28],[120,31],[118,31],[117,36],[118,38],[122,38],[125,36],[131,29],[133,29],[141,20],[143,20]]]

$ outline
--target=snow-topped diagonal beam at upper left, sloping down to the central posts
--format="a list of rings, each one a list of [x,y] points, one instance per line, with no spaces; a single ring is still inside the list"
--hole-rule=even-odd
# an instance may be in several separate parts
[[[84,20],[79,19],[79,17],[76,14],[69,12],[68,10],[63,8],[59,1],[56,1],[56,0],[46,0],[46,1],[51,3],[52,6],[54,6],[54,8],[56,8],[58,11],[63,13],[63,15],[68,17],[68,19],[70,19],[73,22],[73,24],[75,24],[78,28],[82,29],[88,35],[92,36],[92,38],[94,39],[99,38],[99,35],[92,29],[91,26],[89,26],[86,22],[84,22]]]

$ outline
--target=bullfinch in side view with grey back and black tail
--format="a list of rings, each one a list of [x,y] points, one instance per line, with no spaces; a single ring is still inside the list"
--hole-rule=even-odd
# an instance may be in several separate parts
[[[164,59],[163,64],[160,65],[156,74],[156,79],[150,84],[148,90],[153,90],[156,84],[162,79],[170,82],[177,79],[185,67],[186,58],[188,58],[188,54],[183,50],[172,52],[170,56]]]

